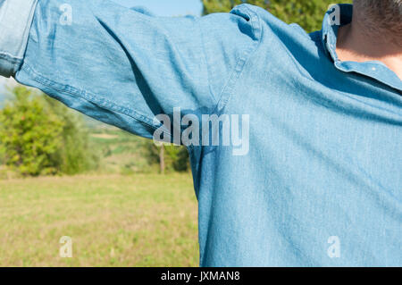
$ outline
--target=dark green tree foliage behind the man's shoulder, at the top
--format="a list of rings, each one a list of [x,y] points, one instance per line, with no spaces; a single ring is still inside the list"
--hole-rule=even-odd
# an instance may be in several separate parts
[[[322,18],[330,4],[329,0],[203,0],[204,14],[229,12],[237,4],[260,6],[287,23],[296,22],[307,32],[321,29]],[[351,0],[336,3],[352,3]]]

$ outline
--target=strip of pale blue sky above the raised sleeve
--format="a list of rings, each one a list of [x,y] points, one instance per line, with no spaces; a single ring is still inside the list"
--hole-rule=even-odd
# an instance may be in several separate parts
[[[200,15],[201,0],[113,0],[127,6],[143,6],[157,16]]]

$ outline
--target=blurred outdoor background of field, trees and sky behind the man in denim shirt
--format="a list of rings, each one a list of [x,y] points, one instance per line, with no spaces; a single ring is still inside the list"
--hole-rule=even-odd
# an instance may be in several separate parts
[[[114,2],[174,17],[256,4],[307,32],[321,29],[332,3]],[[71,258],[59,255],[63,236],[71,238]],[[0,79],[0,266],[197,265],[197,199],[185,148],[156,147]]]

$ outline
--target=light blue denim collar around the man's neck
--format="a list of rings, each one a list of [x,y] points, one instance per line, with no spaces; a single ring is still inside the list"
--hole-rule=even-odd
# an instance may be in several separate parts
[[[340,26],[352,21],[353,5],[336,4],[325,13],[322,21],[322,46],[331,56],[331,59],[339,71],[356,72],[378,80],[391,88],[402,91],[402,80],[398,75],[379,61],[369,61],[364,63],[342,62],[336,53],[338,29]]]

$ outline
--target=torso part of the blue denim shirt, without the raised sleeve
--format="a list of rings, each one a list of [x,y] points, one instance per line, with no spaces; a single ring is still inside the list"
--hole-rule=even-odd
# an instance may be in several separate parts
[[[251,9],[260,42],[221,110],[249,114],[249,152],[197,153],[203,264],[401,265],[400,80]]]

